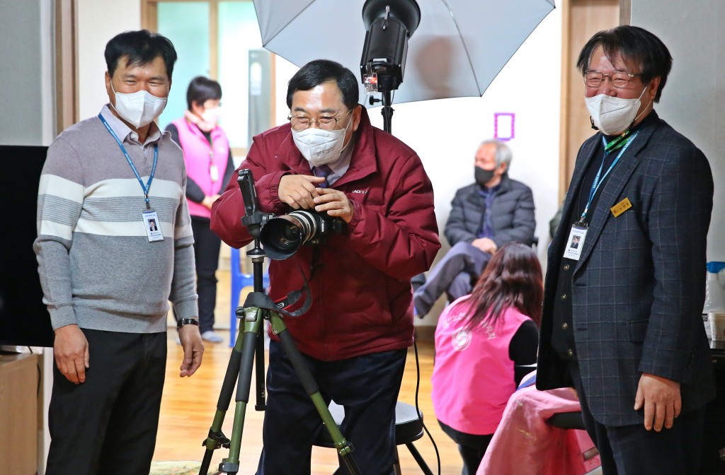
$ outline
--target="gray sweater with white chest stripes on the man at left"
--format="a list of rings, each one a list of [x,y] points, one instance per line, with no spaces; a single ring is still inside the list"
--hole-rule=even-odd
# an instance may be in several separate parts
[[[101,119],[72,125],[49,147],[38,190],[43,303],[54,329],[164,332],[169,300],[178,318],[198,315],[183,154],[156,125],[142,145],[108,106],[101,114],[144,184],[158,143],[149,199],[164,240],[149,242],[141,184]]]

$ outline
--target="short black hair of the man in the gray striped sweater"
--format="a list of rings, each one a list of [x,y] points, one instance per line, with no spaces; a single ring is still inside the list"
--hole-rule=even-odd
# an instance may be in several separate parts
[[[113,77],[119,59],[126,57],[126,66],[144,65],[161,56],[166,66],[166,74],[171,80],[176,62],[176,50],[173,43],[163,35],[149,30],[125,31],[115,35],[106,43],[106,67]]]

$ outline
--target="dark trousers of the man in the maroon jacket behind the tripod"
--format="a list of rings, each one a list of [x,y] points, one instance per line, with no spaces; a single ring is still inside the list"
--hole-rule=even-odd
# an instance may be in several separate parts
[[[305,356],[320,394],[345,408],[341,432],[352,442],[362,474],[393,473],[395,405],[406,350],[371,353],[341,361]],[[299,382],[283,348],[270,342],[267,410],[258,475],[308,475],[312,445],[323,428],[320,414]],[[347,474],[347,468],[341,467]]]

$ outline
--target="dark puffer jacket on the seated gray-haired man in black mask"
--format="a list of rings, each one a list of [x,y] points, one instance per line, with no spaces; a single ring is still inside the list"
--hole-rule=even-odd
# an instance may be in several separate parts
[[[460,241],[470,243],[476,239],[486,211],[486,201],[479,194],[480,189],[479,185],[473,183],[455,193],[451,201],[451,214],[444,230],[450,245]],[[527,245],[534,242],[537,222],[534,218],[534,196],[531,188],[522,182],[511,180],[508,173],[505,173],[494,196],[491,211],[494,228],[492,239],[497,247],[511,241]]]

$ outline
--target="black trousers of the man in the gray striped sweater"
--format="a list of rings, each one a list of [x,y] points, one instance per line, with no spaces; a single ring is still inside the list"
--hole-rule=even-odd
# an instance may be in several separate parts
[[[90,367],[73,384],[57,366],[46,475],[148,475],[166,368],[166,333],[83,329]]]

